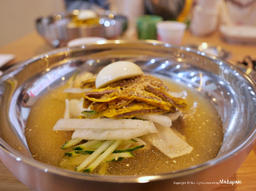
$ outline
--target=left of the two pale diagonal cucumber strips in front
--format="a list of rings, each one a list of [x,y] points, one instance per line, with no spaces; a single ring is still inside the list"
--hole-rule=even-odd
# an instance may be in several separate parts
[[[106,140],[99,148],[97,148],[88,158],[84,160],[78,167],[75,168],[75,171],[81,171],[88,165],[90,165],[96,158],[98,158],[104,151],[106,151],[110,145],[112,145],[114,140]]]

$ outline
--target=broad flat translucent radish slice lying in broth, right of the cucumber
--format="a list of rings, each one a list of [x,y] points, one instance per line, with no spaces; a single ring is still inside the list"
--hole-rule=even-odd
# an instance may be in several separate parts
[[[157,133],[149,133],[143,138],[157,147],[162,153],[170,158],[175,158],[191,153],[193,147],[180,138],[171,128],[156,125]]]

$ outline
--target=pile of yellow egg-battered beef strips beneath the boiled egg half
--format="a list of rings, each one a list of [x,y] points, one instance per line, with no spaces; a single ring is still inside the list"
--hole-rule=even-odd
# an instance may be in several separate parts
[[[95,113],[90,118],[132,118],[139,114],[162,114],[186,107],[186,101],[168,94],[163,82],[151,75],[119,80],[107,87],[84,92],[84,108]]]

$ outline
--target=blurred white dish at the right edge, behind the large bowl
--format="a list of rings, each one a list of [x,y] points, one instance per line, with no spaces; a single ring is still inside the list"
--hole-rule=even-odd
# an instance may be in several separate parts
[[[219,26],[219,31],[231,43],[256,44],[256,26]]]

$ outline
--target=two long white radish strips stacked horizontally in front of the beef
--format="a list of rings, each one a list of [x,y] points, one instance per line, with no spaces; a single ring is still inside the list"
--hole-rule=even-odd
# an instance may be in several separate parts
[[[128,140],[157,132],[152,121],[110,118],[59,119],[53,130],[75,131],[72,139],[80,137],[86,140]]]

